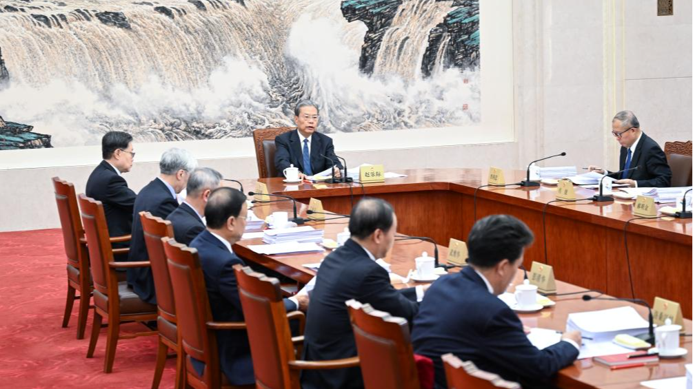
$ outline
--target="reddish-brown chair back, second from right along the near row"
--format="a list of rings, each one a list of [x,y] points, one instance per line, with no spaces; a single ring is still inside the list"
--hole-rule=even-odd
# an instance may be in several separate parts
[[[407,320],[356,300],[346,304],[366,389],[420,389]]]

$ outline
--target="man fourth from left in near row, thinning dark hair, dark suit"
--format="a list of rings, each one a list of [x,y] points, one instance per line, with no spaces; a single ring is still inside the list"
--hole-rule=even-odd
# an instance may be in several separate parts
[[[212,316],[216,321],[243,321],[243,307],[238,297],[238,283],[234,265],[243,260],[234,254],[231,245],[238,242],[245,231],[248,214],[245,195],[233,188],[218,188],[209,195],[204,208],[207,229],[193,239],[190,246],[198,250],[204,271],[207,296]],[[285,298],[286,311],[306,309],[307,297]],[[250,345],[245,331],[217,332],[221,370],[233,385],[255,382]],[[204,364],[193,359],[195,369],[202,374]]]

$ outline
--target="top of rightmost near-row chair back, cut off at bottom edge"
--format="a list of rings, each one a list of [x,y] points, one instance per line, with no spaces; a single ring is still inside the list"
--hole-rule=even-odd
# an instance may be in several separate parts
[[[498,374],[479,370],[472,361],[463,362],[454,354],[441,356],[448,389],[521,389],[520,384],[505,381]]]

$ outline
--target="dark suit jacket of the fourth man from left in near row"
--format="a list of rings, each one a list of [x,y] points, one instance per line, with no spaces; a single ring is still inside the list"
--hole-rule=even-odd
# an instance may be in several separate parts
[[[243,260],[231,253],[220,240],[202,231],[193,239],[191,247],[198,250],[200,264],[204,271],[204,282],[207,284],[207,297],[212,316],[216,321],[244,321],[243,308],[238,297],[238,283],[234,273],[234,265],[242,264]],[[295,311],[296,305],[284,299],[287,311]],[[217,344],[219,347],[221,370],[233,385],[249,385],[255,382],[250,345],[245,331],[218,331]],[[202,372],[202,363],[194,361],[195,368]]]

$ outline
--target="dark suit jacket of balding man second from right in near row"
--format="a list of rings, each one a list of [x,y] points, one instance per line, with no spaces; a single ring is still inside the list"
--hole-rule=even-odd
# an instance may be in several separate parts
[[[351,298],[410,323],[419,309],[416,291],[394,289],[387,271],[371,260],[360,244],[349,239],[320,264],[308,307],[304,341],[307,361],[356,356],[356,341],[344,305]],[[304,370],[301,385],[304,389],[363,388],[363,379],[359,368]]]

